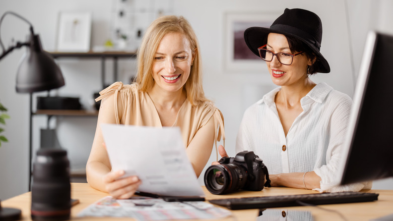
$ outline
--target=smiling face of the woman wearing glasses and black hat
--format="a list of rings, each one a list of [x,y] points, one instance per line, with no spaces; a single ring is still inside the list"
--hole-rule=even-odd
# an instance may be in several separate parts
[[[291,51],[285,35],[270,33],[268,36],[267,49],[274,53],[298,53],[301,51]],[[303,84],[307,78],[307,66],[312,62],[303,53],[293,57],[291,65],[283,65],[275,56],[271,62],[266,62],[272,81],[278,86],[290,86]]]

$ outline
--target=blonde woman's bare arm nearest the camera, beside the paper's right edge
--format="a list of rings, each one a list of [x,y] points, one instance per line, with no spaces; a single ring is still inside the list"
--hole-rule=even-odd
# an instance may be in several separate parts
[[[201,175],[210,158],[214,137],[214,116],[212,116],[208,123],[198,130],[187,146],[186,153],[197,177]]]

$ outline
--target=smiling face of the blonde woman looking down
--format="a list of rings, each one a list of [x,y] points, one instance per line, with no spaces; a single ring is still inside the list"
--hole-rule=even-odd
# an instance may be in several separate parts
[[[168,33],[160,41],[153,62],[154,86],[168,92],[181,91],[187,81],[193,56],[182,33]]]

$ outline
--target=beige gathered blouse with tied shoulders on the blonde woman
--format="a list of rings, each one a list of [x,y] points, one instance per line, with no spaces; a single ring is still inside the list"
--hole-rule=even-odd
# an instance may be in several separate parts
[[[117,100],[117,94],[120,99]],[[105,97],[114,95],[114,108],[116,124],[162,127],[157,109],[147,92],[139,91],[135,84],[123,85],[115,82],[100,91],[99,101]],[[122,105],[122,113],[118,112],[117,105]],[[184,146],[187,147],[198,130],[205,126],[210,118],[214,118],[214,143],[217,153],[217,141],[223,138],[225,144],[224,118],[220,110],[210,101],[192,106],[188,99],[180,107],[175,123],[172,127],[180,127]]]

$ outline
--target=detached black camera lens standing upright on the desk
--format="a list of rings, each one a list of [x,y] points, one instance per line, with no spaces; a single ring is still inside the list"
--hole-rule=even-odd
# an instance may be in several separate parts
[[[70,213],[70,161],[67,151],[40,149],[33,165],[31,218],[67,220]]]

